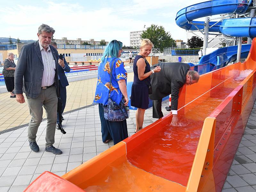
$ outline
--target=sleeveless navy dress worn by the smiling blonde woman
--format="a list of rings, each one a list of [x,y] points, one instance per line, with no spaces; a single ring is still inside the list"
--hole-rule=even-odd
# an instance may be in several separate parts
[[[150,84],[150,76],[146,79],[140,81],[138,76],[138,67],[137,61],[143,58],[141,55],[137,55],[133,62],[133,84],[132,84],[132,94],[131,94],[131,106],[136,108],[147,109],[148,108],[148,85]],[[144,73],[148,73],[150,71],[150,65],[147,60],[146,68]]]

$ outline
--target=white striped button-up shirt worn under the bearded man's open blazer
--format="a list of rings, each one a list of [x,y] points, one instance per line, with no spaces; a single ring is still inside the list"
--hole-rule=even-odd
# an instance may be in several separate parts
[[[42,87],[50,86],[54,83],[54,80],[55,80],[54,79],[55,69],[56,69],[55,60],[53,59],[50,46],[48,46],[47,51],[45,51],[45,49],[42,47],[40,42],[38,42],[38,44],[41,50],[43,64],[44,64]]]

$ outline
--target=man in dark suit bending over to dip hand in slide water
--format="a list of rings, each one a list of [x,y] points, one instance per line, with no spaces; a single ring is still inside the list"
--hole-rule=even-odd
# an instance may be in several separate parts
[[[178,98],[180,88],[184,85],[197,83],[199,74],[196,71],[189,71],[190,66],[187,63],[158,63],[153,65],[161,67],[161,71],[150,76],[153,93],[149,98],[153,100],[153,118],[163,117],[161,110],[162,99],[172,94],[172,125],[178,125]]]

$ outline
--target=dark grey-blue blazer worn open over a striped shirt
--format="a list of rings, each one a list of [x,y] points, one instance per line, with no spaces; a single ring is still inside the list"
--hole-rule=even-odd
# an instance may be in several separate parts
[[[49,45],[55,60],[55,86],[58,86],[58,52]],[[30,98],[36,98],[41,92],[42,77],[44,65],[38,41],[23,45],[20,51],[17,67],[14,74],[14,91],[15,94],[22,94]],[[23,81],[24,78],[24,81]]]

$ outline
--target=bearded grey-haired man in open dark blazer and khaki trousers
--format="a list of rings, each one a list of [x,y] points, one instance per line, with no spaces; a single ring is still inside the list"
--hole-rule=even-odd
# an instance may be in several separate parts
[[[50,45],[55,30],[42,24],[38,28],[38,41],[23,45],[15,71],[14,93],[19,103],[26,94],[31,120],[28,125],[28,141],[32,151],[38,152],[36,133],[46,111],[47,126],[45,151],[61,154],[53,147],[57,119],[58,52]],[[24,81],[23,81],[24,78]]]

